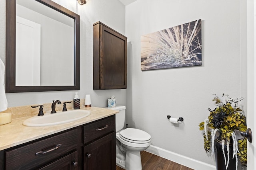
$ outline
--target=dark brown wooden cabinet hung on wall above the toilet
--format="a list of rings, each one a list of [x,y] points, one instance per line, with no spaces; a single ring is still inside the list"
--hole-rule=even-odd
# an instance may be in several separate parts
[[[93,89],[126,88],[127,37],[100,21],[93,30]]]

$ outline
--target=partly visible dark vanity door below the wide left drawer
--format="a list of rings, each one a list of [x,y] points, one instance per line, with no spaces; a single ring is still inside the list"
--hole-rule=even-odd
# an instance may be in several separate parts
[[[78,170],[79,165],[78,151],[75,151],[63,158],[60,158],[39,170]]]

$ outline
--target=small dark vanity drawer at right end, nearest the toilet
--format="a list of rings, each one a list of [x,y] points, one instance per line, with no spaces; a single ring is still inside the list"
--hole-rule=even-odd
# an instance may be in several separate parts
[[[116,130],[115,115],[84,125],[84,143]]]

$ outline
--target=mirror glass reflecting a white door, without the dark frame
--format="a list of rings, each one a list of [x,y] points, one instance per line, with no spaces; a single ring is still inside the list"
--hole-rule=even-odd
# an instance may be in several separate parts
[[[16,63],[16,86],[74,86],[74,19],[16,0]]]

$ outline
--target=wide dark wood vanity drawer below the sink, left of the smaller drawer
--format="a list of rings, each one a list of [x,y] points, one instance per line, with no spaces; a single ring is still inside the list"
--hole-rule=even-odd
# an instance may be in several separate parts
[[[6,170],[28,170],[42,167],[44,164],[52,161],[52,159],[56,159],[76,149],[77,141],[78,130],[72,129],[16,149],[7,150],[5,152]],[[58,147],[59,145],[61,146]]]

